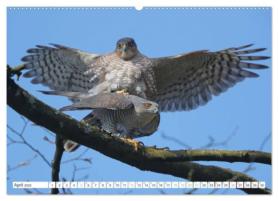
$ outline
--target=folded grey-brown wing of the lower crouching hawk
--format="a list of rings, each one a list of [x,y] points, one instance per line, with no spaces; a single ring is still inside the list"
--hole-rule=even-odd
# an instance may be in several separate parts
[[[62,107],[60,111],[67,110],[91,110],[91,109],[129,109],[133,105],[132,100],[125,94],[102,93],[83,99],[72,105]]]

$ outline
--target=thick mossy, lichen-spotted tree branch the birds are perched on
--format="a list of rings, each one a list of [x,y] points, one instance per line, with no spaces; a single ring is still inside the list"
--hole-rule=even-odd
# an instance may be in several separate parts
[[[18,70],[18,69],[17,69]],[[140,170],[169,174],[190,181],[257,181],[246,174],[217,166],[188,161],[257,162],[271,164],[271,154],[257,151],[180,150],[161,151],[138,147],[72,119],[29,94],[10,78],[13,69],[7,66],[7,105],[19,114],[64,139],[69,139]],[[271,194],[271,190],[242,188],[248,194]]]

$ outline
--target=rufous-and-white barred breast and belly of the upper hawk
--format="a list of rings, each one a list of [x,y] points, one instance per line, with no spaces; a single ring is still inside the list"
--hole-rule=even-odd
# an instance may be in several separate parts
[[[140,53],[126,61],[110,52],[89,66],[91,69],[85,74],[95,73],[90,82],[96,78],[100,80],[96,94],[126,89],[130,94],[146,98],[147,92],[156,93],[153,64]]]

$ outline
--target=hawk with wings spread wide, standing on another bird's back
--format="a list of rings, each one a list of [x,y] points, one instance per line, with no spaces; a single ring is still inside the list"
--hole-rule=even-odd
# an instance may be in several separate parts
[[[86,53],[62,45],[37,45],[21,60],[31,69],[24,77],[52,90],[100,94],[125,89],[129,94],[158,103],[160,112],[190,111],[206,105],[245,78],[257,74],[246,69],[265,65],[242,62],[268,59],[245,56],[265,50],[241,50],[251,45],[221,51],[207,50],[172,57],[148,58],[139,53],[133,38],[122,38],[115,51],[104,55]],[[242,56],[243,55],[243,56]],[[72,101],[76,101],[71,99]]]

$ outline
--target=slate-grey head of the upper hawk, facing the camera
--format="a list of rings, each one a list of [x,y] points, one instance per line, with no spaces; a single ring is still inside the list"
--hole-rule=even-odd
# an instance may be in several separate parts
[[[137,45],[133,38],[122,38],[118,40],[115,53],[124,60],[135,57],[138,53]]]

